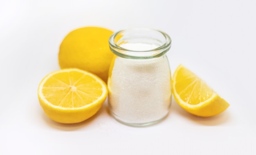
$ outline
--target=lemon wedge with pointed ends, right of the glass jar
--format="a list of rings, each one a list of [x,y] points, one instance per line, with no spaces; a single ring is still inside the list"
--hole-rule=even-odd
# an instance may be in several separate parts
[[[172,87],[177,103],[196,116],[215,116],[229,107],[229,103],[183,65],[175,70]]]

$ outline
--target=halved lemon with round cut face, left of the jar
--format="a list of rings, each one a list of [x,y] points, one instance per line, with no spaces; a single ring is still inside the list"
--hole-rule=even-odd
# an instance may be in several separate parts
[[[98,76],[76,68],[52,72],[38,86],[45,114],[60,123],[90,118],[101,108],[107,94],[107,86]]]

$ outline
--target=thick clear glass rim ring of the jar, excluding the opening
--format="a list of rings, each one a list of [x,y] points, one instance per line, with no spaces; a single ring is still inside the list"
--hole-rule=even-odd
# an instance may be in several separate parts
[[[130,50],[127,48],[123,48],[116,44],[116,37],[120,35],[121,33],[129,32],[129,31],[148,31],[148,32],[157,32],[164,37],[164,41],[160,46],[157,46],[156,48],[150,49],[150,50]],[[125,29],[121,31],[117,31],[113,33],[109,38],[109,46],[111,51],[120,57],[124,58],[130,58],[130,59],[150,59],[155,57],[160,57],[164,55],[170,48],[171,48],[171,37],[159,30],[150,29],[150,28],[130,28]]]

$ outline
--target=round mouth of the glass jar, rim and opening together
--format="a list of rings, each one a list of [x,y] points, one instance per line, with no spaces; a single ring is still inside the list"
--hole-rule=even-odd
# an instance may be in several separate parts
[[[131,28],[112,34],[109,46],[119,57],[151,59],[164,55],[171,48],[171,38],[162,31]]]

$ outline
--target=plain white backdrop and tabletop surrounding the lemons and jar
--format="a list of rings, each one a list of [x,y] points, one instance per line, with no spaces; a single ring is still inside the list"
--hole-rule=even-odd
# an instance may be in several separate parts
[[[255,155],[255,0],[0,0],[1,155]],[[182,63],[230,107],[200,118],[173,100],[150,127],[114,120],[105,102],[79,124],[58,124],[41,109],[37,87],[58,70],[70,31],[147,27],[172,38],[172,73]]]

